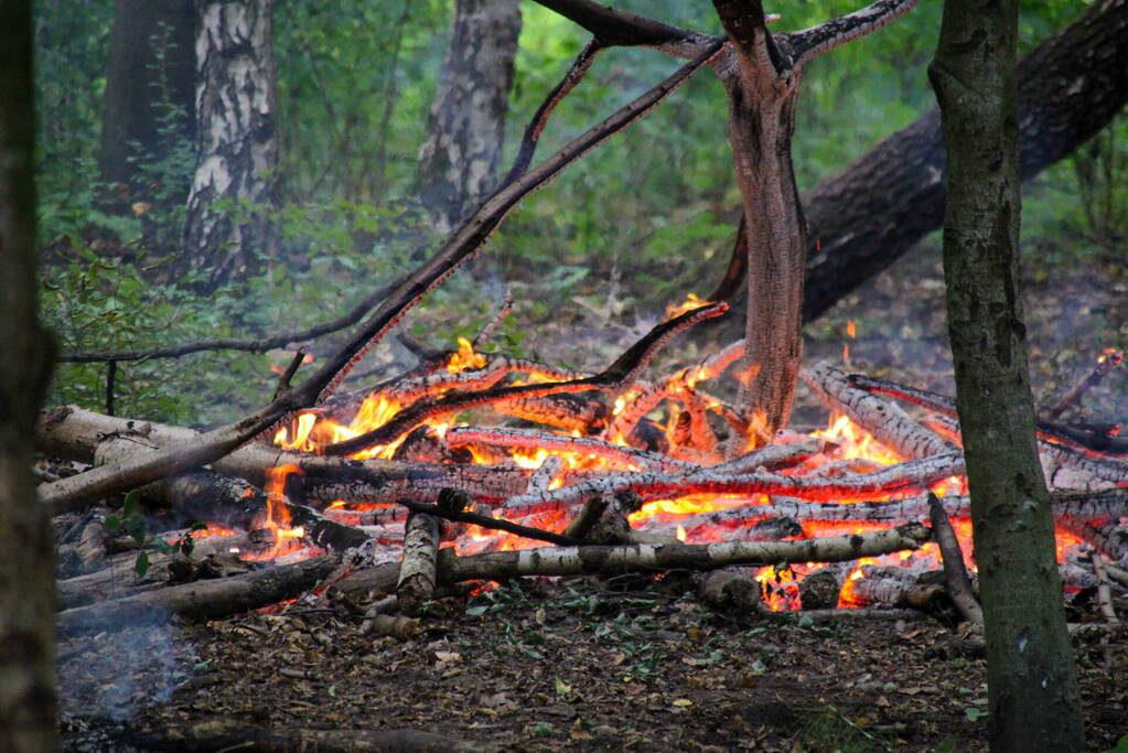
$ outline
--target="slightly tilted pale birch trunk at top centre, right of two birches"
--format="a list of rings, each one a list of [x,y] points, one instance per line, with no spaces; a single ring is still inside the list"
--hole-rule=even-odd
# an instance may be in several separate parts
[[[432,224],[449,232],[496,184],[519,0],[458,0],[430,136],[420,150],[418,196]]]

